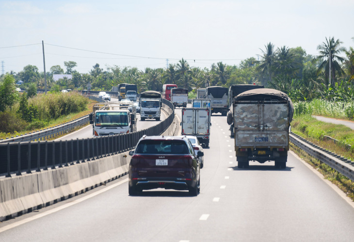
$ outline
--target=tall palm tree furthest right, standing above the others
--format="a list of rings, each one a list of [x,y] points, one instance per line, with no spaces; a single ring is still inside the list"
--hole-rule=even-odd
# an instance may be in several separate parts
[[[325,76],[329,77],[328,79],[331,80],[330,84],[332,85],[335,83],[335,73],[337,72],[338,76],[341,76],[344,73],[338,63],[338,61],[340,63],[344,61],[344,58],[338,56],[340,52],[345,51],[344,47],[339,46],[340,44],[343,44],[343,42],[339,41],[339,39],[335,41],[334,37],[329,37],[329,39],[326,37],[326,42],[323,42],[321,45],[317,46],[320,55],[314,58],[314,61],[322,61],[320,66],[317,68],[317,75],[319,75],[324,69]],[[331,70],[329,71],[329,69]]]

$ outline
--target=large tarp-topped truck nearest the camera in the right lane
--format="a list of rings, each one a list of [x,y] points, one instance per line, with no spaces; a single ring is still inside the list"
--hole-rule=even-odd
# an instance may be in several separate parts
[[[239,168],[247,168],[249,161],[274,161],[275,167],[286,167],[293,112],[287,94],[274,89],[245,91],[234,98],[234,138]]]

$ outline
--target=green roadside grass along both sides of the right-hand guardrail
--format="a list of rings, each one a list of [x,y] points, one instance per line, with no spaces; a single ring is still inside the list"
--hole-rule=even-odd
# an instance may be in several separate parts
[[[349,127],[318,121],[310,115],[301,115],[294,117],[294,120],[291,122],[291,131],[326,150],[354,160],[354,130]],[[335,138],[338,142],[335,143],[333,140],[327,140],[325,136]],[[346,148],[346,144],[351,145],[352,148]],[[321,172],[325,179],[336,184],[354,201],[353,181],[341,175],[330,166],[321,163],[318,159],[308,155],[292,143],[290,143],[290,149]]]

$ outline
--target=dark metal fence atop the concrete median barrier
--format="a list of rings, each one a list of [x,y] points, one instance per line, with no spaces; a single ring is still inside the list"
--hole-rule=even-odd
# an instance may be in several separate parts
[[[11,177],[49,167],[55,169],[129,151],[142,136],[161,135],[172,124],[175,108],[167,100],[162,103],[171,110],[168,118],[138,132],[65,141],[0,143],[0,176]]]

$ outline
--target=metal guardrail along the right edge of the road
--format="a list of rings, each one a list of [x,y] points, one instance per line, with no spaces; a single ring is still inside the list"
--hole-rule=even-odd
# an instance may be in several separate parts
[[[309,155],[315,157],[324,164],[337,170],[340,174],[354,181],[354,162],[351,160],[327,151],[320,146],[307,141],[303,137],[295,135],[294,133],[290,134],[290,141]]]

